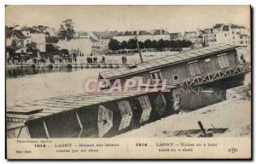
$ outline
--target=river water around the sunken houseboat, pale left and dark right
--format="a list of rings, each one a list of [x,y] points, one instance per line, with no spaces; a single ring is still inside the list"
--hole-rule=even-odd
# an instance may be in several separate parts
[[[108,69],[32,69],[7,74],[6,101],[7,105],[15,105],[37,99],[48,99],[56,96],[84,93],[84,83],[87,79],[97,79],[99,72]],[[26,75],[24,75],[26,74]],[[250,75],[246,76],[250,82]],[[181,108],[195,110],[206,105],[212,105],[225,99],[227,88],[242,85],[231,82],[213,87],[193,89],[177,89],[181,95]],[[217,86],[217,87],[216,87]]]

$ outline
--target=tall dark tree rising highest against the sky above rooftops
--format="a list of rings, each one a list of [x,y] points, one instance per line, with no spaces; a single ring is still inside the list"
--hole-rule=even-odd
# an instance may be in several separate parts
[[[70,40],[74,37],[74,34],[75,31],[73,30],[73,21],[70,19],[64,20],[63,24],[60,26],[57,36],[62,40]]]

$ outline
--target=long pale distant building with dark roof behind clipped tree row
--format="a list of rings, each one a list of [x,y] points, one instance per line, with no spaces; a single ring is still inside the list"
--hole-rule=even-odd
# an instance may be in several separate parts
[[[152,40],[152,34],[148,31],[122,31],[118,35],[114,36],[113,39],[118,40],[119,42],[126,41],[136,38],[140,42],[146,40]]]

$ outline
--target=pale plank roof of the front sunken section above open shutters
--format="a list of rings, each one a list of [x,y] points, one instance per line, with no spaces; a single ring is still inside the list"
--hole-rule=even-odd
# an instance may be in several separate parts
[[[44,116],[51,116],[67,110],[75,110],[90,105],[100,105],[108,101],[125,99],[146,92],[122,93],[84,93],[68,95],[50,99],[39,99],[32,102],[7,106],[7,120],[14,122],[27,122]]]

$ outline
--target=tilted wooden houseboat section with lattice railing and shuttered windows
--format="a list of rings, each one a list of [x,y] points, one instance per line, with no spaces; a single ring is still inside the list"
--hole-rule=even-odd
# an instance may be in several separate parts
[[[99,79],[108,79],[111,83],[115,79],[120,79],[121,83],[124,83],[127,79],[139,76],[145,80],[151,79],[151,82],[156,80],[162,82],[166,79],[169,85],[190,87],[236,75],[244,76],[245,72],[250,71],[250,63],[240,65],[238,58],[236,46],[218,44],[181,54],[172,54],[131,68],[103,71],[99,74]]]

